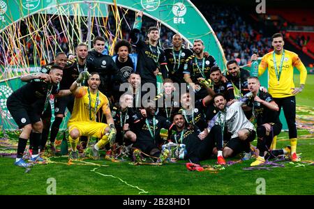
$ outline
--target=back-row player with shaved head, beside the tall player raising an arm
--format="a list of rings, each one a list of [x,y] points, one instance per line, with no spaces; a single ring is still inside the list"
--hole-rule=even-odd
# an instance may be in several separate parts
[[[193,54],[190,49],[182,46],[182,37],[177,33],[172,36],[172,47],[165,49],[165,57],[167,59],[168,78],[174,83],[185,83],[184,81],[184,63],[186,59]],[[179,90],[179,89],[177,89]]]

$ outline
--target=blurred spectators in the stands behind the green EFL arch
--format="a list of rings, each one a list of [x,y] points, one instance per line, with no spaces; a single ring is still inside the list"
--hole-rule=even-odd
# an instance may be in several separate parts
[[[239,65],[246,65],[251,62],[251,54],[253,52],[259,52],[260,54],[266,54],[271,49],[271,39],[262,36],[261,31],[257,31],[253,28],[251,24],[246,22],[243,15],[237,8],[234,6],[232,8],[225,8],[218,4],[207,4],[200,8],[200,11],[208,11],[211,13],[203,13],[211,27],[216,33],[220,44],[222,45],[225,53],[225,57],[227,60],[236,59]],[[108,17],[109,24],[111,28],[109,29],[112,34],[115,33],[114,29],[114,18]],[[147,28],[153,24],[156,24],[154,20],[149,17],[145,17],[145,21],[142,27],[141,35],[142,38],[145,37],[145,33]],[[70,21],[70,20],[69,20]],[[125,17],[125,21],[121,24],[121,31],[123,31],[124,39],[128,40],[130,38],[130,28],[129,23],[132,22],[132,18],[130,16]],[[127,24],[128,23],[128,24]],[[68,40],[65,33],[62,33],[62,27],[60,25],[59,20],[56,18],[52,20],[52,25],[54,29],[59,31],[60,36],[57,37],[57,41],[61,47],[61,51],[66,54],[71,53],[68,48]],[[23,33],[23,32],[22,32]],[[97,26],[94,26],[93,34],[98,34]],[[82,26],[82,34],[87,36],[87,28]],[[98,34],[100,35],[100,34]],[[165,26],[160,27],[160,41],[163,49],[169,47],[172,43],[172,36],[174,32],[170,29],[167,29]],[[36,59],[33,58],[33,40],[36,40],[37,44],[40,45],[40,36],[44,36],[41,34],[36,36],[35,38],[27,39],[24,38],[24,42],[27,42],[27,56],[29,59],[29,64],[34,64],[34,60],[38,62],[40,65],[40,57],[36,54]],[[86,37],[83,37],[83,39]],[[51,39],[51,48],[54,48],[54,40],[55,37]],[[111,40],[107,40],[107,44],[110,45]],[[75,43],[77,44],[77,43]],[[39,47],[40,48],[40,47]],[[53,53],[51,49],[49,49],[50,57],[53,57]]]

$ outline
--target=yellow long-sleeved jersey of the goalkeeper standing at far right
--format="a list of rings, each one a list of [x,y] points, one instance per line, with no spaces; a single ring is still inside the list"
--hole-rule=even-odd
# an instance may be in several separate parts
[[[293,82],[293,66],[297,68],[300,72],[300,84],[305,84],[306,82],[306,67],[299,59],[299,56],[294,52],[284,50],[283,54],[276,54],[276,65],[277,73],[274,65],[274,52],[269,52],[262,57],[262,61],[258,67],[258,76],[262,75],[268,68],[269,81],[268,89],[269,93],[274,98],[287,98],[292,96],[292,89],[294,88]],[[281,64],[282,62],[282,64]],[[280,65],[282,65],[282,70],[280,73]],[[280,75],[280,76],[279,76]],[[279,81],[278,81],[279,77]]]

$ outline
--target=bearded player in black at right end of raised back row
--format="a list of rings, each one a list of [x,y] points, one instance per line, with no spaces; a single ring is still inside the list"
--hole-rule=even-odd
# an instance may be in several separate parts
[[[202,88],[198,79],[209,79],[211,67],[217,63],[214,56],[204,56],[204,43],[200,39],[194,40],[193,52],[194,54],[188,57],[184,64],[184,79],[195,91],[195,100],[199,100],[207,95],[207,90]]]

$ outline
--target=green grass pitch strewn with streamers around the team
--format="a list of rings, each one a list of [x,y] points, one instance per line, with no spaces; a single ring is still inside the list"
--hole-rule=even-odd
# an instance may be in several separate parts
[[[298,81],[299,77],[296,76],[296,84]],[[314,114],[313,95],[314,75],[308,75],[304,91],[297,95],[297,106],[301,107],[297,114],[305,116],[304,121],[308,123],[311,123]],[[304,106],[306,111],[302,111]],[[298,129],[298,134],[297,153],[301,153],[302,161],[313,161],[314,135],[305,128]],[[282,132],[278,136],[277,148],[290,144],[287,139],[287,132]],[[133,166],[128,162],[104,159],[84,160],[94,164],[80,162],[71,165],[66,164],[66,157],[51,160],[59,163],[38,164],[25,173],[25,169],[13,165],[13,158],[1,157],[0,194],[45,195],[50,188],[51,178],[55,180],[57,194],[257,194],[257,180],[260,178],[265,180],[265,194],[314,194],[314,166],[311,163],[286,162],[283,163],[285,167],[246,171],[244,168],[253,162],[248,160],[216,172],[197,172],[188,171],[186,161],[162,166]],[[202,164],[214,165],[216,160],[206,160]]]

